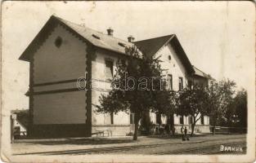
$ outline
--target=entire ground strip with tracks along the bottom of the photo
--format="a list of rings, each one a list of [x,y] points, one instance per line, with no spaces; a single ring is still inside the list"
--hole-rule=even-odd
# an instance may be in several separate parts
[[[231,148],[235,151],[230,151]],[[197,135],[189,141],[180,136],[100,137],[78,139],[20,139],[11,144],[14,156],[85,154],[245,154],[246,134]],[[224,152],[221,152],[223,148]],[[237,151],[236,151],[237,149]]]

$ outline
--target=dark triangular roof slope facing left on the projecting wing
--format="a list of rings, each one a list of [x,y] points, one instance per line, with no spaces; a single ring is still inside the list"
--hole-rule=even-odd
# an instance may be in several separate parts
[[[174,35],[167,35],[163,37],[155,37],[146,40],[134,42],[137,48],[148,56],[153,56],[161,47],[164,46]]]

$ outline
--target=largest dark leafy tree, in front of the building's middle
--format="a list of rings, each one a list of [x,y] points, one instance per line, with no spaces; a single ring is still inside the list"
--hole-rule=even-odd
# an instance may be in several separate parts
[[[137,140],[138,122],[144,112],[163,111],[168,105],[168,90],[161,78],[160,60],[141,54],[135,46],[126,48],[127,59],[119,59],[116,73],[111,81],[112,90],[101,95],[97,112],[134,113],[135,130],[133,139]],[[162,96],[159,99],[159,95]],[[159,100],[164,102],[160,104]]]

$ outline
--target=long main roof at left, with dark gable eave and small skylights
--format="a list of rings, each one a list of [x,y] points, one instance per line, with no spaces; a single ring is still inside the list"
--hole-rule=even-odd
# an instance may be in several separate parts
[[[40,45],[46,39],[47,33],[50,33],[56,24],[65,26],[66,29],[69,29],[70,32],[78,35],[80,39],[83,39],[83,41],[90,42],[94,46],[101,47],[109,51],[125,54],[125,46],[133,46],[131,42],[126,42],[119,38],[97,32],[96,30],[89,29],[83,25],[74,24],[70,21],[63,20],[52,15],[43,26],[43,29],[40,30],[38,35],[34,37],[34,40],[29,44],[22,55],[20,55],[20,59],[29,61],[29,55],[34,53],[36,46]]]

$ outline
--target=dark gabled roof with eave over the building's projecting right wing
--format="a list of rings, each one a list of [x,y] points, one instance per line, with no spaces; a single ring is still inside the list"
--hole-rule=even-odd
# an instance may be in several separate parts
[[[167,45],[168,43],[170,43],[173,46],[174,51],[176,51],[177,53],[177,57],[181,59],[182,64],[186,68],[187,73],[195,73],[195,70],[192,67],[190,60],[187,58],[186,53],[183,50],[182,45],[178,41],[177,36],[175,34],[134,42],[135,46],[137,46],[137,48],[142,53],[145,53],[150,57],[155,55],[163,46]]]

